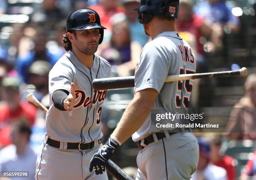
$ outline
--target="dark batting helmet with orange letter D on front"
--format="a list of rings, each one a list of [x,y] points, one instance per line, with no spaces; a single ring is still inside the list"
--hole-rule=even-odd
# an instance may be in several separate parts
[[[67,32],[70,30],[89,30],[94,28],[100,29],[99,44],[101,44],[104,36],[104,29],[107,28],[100,24],[100,16],[95,10],[89,8],[75,10],[70,13],[67,18]]]

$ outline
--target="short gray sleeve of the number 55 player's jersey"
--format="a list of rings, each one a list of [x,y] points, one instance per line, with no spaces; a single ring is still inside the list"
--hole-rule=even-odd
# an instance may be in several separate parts
[[[147,44],[141,52],[140,62],[136,67],[134,92],[153,88],[159,93],[168,75],[169,66],[164,49],[156,47],[153,42]]]

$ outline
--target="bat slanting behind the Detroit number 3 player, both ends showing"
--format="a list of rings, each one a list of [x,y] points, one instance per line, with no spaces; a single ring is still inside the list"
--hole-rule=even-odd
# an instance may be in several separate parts
[[[48,109],[36,99],[33,93],[29,93],[27,95],[27,101],[31,102],[33,105],[36,105],[36,107],[39,107],[39,109],[41,109],[45,113],[48,111]],[[121,168],[119,168],[119,166],[116,165],[112,160],[107,161],[106,169],[108,173],[113,175],[113,177],[115,177],[117,180],[133,180],[133,178],[128,176],[128,174],[126,174]]]

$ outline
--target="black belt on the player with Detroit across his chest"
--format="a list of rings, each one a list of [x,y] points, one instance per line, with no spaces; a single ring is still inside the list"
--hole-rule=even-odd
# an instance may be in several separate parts
[[[95,142],[98,142],[98,144],[101,143],[101,138],[99,140],[92,141],[91,143],[67,143],[67,149],[72,149],[72,150],[87,150],[87,149],[92,149],[95,145]],[[60,142],[53,140],[51,138],[48,138],[46,144],[48,144],[51,147],[54,148],[60,148]]]

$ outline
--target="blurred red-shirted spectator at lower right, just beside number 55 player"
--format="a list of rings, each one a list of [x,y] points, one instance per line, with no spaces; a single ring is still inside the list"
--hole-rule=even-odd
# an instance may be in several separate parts
[[[222,136],[214,136],[210,139],[210,160],[214,165],[224,168],[227,171],[228,180],[236,180],[234,158],[224,155],[221,152],[221,144]]]

